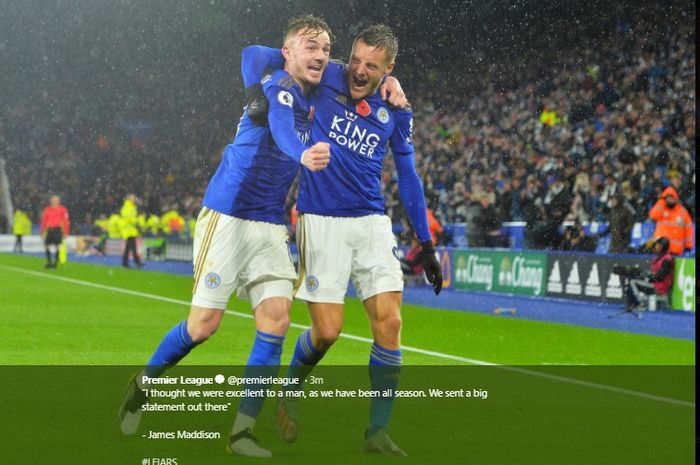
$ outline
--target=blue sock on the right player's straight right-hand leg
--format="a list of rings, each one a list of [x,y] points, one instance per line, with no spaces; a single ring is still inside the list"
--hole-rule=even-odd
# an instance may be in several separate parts
[[[378,429],[387,429],[389,418],[394,407],[394,396],[399,385],[399,373],[401,372],[401,350],[390,350],[377,344],[372,344],[372,352],[369,356],[369,377],[373,391],[384,392],[391,389],[389,397],[373,397],[369,410],[369,430],[367,435],[373,434]]]

